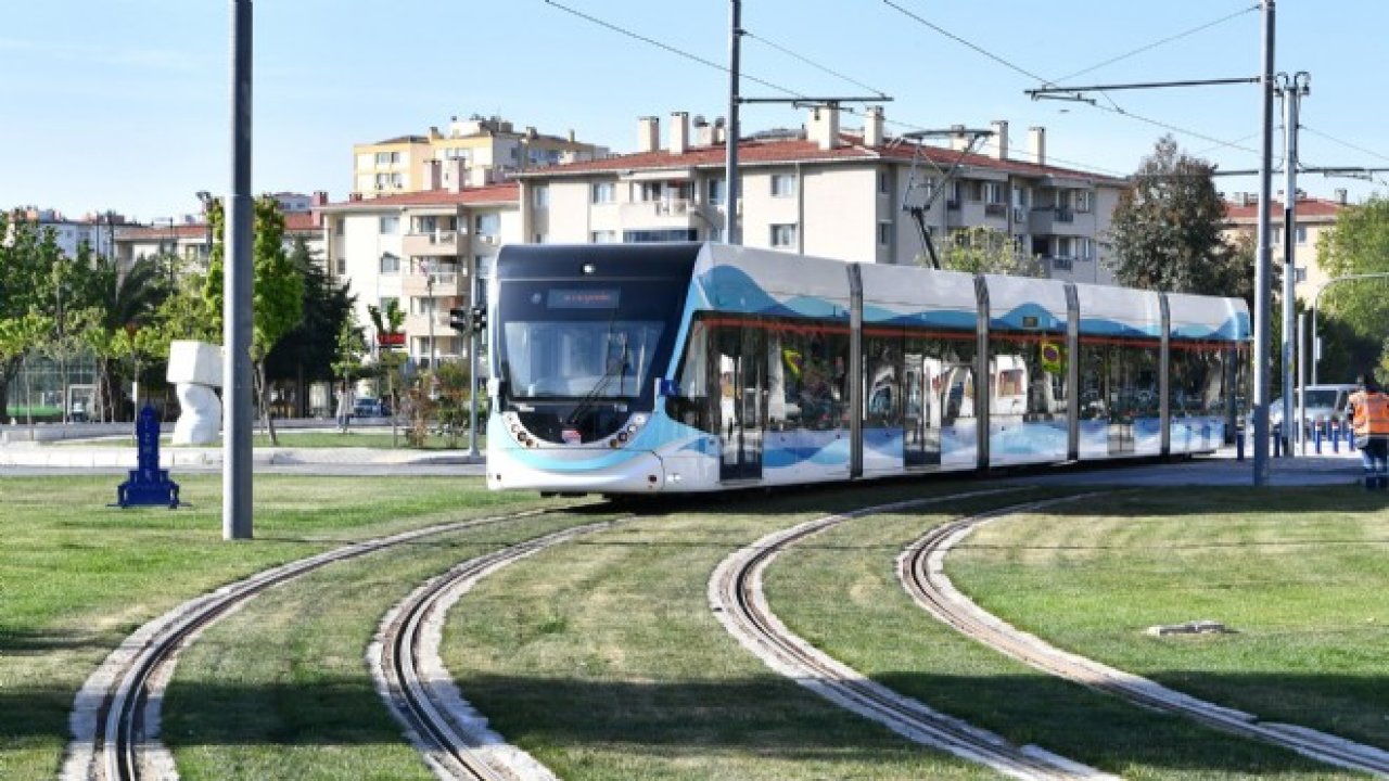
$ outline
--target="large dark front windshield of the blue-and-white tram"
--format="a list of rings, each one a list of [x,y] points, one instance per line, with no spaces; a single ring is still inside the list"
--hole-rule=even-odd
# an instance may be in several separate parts
[[[650,404],[679,311],[672,288],[656,281],[503,283],[499,357],[507,396]]]

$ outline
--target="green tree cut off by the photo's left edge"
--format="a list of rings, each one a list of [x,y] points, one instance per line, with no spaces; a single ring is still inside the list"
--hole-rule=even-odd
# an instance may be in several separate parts
[[[49,275],[57,265],[63,250],[58,249],[53,231],[42,231],[38,222],[18,213],[0,211],[0,416],[8,416],[10,382],[19,372],[28,350],[40,339],[32,331],[36,317],[51,318],[46,302],[36,293],[47,289]]]

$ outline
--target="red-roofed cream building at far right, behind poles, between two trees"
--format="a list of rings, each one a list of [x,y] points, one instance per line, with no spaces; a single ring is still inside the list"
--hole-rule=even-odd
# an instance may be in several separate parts
[[[1282,193],[1279,193],[1282,196]],[[1317,256],[1317,240],[1325,231],[1336,225],[1336,215],[1346,208],[1346,190],[1338,189],[1332,200],[1307,197],[1297,193],[1293,222],[1293,265],[1300,271],[1297,282],[1293,285],[1293,295],[1306,303],[1311,303],[1317,290],[1326,283],[1326,272],[1322,271]],[[1270,250],[1271,261],[1282,265],[1288,258],[1288,232],[1283,229],[1285,200],[1274,200],[1268,210]],[[1225,202],[1225,238],[1239,236],[1254,242],[1258,238],[1258,196],[1256,193],[1235,193],[1233,200]],[[1279,293],[1281,295],[1281,293]]]

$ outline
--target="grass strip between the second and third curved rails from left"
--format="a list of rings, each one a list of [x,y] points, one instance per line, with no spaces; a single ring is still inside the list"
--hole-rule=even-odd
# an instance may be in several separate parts
[[[886,489],[903,491],[922,489]],[[460,600],[444,660],[561,778],[993,778],[768,670],[710,611],[710,573],[731,552],[864,496],[683,500],[526,559]]]

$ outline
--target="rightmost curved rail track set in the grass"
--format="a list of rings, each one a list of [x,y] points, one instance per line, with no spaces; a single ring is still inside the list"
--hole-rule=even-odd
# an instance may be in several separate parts
[[[1017,630],[986,613],[960,593],[945,574],[945,556],[958,541],[981,525],[1022,511],[1076,502],[1093,493],[1047,499],[981,513],[931,529],[897,557],[897,575],[908,593],[928,613],[1001,653],[1045,673],[1113,693],[1136,705],[1185,716],[1201,724],[1254,738],[1340,767],[1389,775],[1389,752],[1345,738],[1290,724],[1258,721],[1257,716],[1222,707],[1156,681],[1067,653],[1040,638]]]

